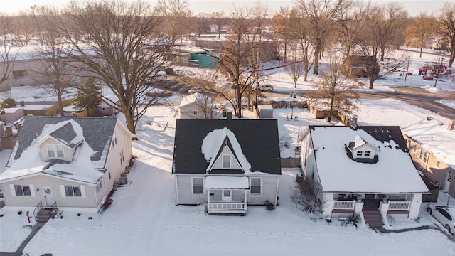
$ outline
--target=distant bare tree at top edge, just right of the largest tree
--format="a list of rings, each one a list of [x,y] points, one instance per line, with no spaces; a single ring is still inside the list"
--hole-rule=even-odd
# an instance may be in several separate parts
[[[164,33],[171,43],[182,39],[188,32],[188,18],[191,16],[188,0],[158,0],[155,12],[163,17]]]

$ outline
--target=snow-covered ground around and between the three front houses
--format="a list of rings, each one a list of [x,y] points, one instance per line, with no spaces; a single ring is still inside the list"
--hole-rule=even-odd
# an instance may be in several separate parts
[[[388,107],[387,107],[388,106]],[[400,107],[397,107],[400,106]],[[374,119],[368,112],[375,112]],[[298,121],[287,121],[289,109],[274,110],[279,133],[296,137],[307,124],[323,124],[307,110],[296,110]],[[246,113],[248,116],[249,113]],[[360,122],[406,126],[427,114],[404,102],[367,100]],[[114,193],[112,206],[101,214],[77,216],[64,212],[50,220],[26,246],[28,255],[454,255],[455,243],[438,230],[378,233],[362,225],[341,226],[314,220],[291,203],[291,188],[298,169],[283,169],[279,206],[249,208],[245,217],[196,213],[195,206],[175,206],[171,174],[175,118],[167,107],[154,107],[134,142],[129,186]],[[164,128],[161,124],[167,124]],[[4,154],[5,151],[1,151]],[[7,153],[8,151],[6,151]],[[4,158],[2,158],[3,161]],[[3,170],[2,170],[3,171]],[[0,210],[1,252],[14,252],[30,233],[25,215]],[[392,228],[439,225],[422,209],[419,222],[395,220]],[[92,220],[88,218],[92,217]]]

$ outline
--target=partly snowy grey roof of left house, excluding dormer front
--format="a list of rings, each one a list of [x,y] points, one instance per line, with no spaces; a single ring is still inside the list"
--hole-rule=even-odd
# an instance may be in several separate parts
[[[18,141],[0,181],[31,175],[50,175],[97,183],[102,176],[117,118],[33,117],[24,118]],[[77,147],[73,161],[40,158],[38,144],[53,137],[70,148]]]

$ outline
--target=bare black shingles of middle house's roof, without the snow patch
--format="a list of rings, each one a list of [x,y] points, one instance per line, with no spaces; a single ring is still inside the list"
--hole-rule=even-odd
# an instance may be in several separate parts
[[[209,132],[224,127],[235,134],[243,154],[251,164],[250,171],[281,174],[276,119],[177,119],[172,172],[205,174],[208,162],[201,150],[203,139]],[[238,173],[238,170],[232,173]]]

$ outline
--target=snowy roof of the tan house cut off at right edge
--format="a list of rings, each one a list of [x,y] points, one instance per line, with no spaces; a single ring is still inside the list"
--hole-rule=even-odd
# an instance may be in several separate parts
[[[449,131],[447,127],[436,119],[424,119],[403,128],[403,134],[455,169],[455,129]]]

